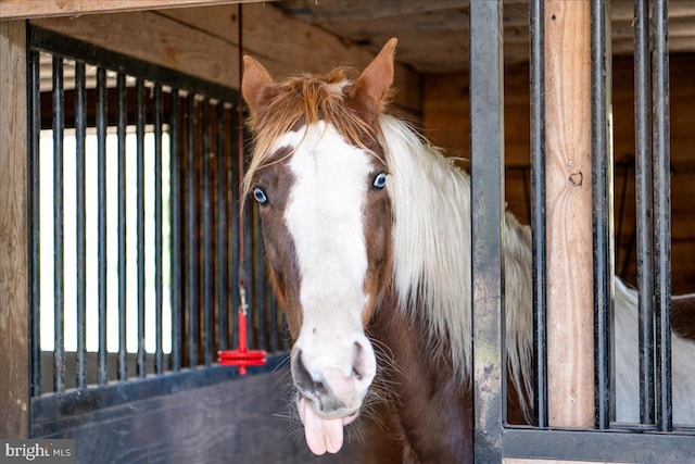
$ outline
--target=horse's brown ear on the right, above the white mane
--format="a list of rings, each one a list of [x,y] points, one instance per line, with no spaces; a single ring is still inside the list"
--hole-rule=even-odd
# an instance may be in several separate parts
[[[377,111],[381,109],[393,84],[393,55],[397,42],[395,37],[389,40],[352,87],[353,98],[366,98],[366,102]]]

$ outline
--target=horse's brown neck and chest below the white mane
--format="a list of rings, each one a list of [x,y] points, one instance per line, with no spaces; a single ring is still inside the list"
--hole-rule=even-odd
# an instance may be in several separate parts
[[[396,432],[404,443],[404,462],[472,463],[472,393],[460,383],[451,360],[433,360],[422,343],[427,322],[399,308],[397,297],[382,289],[369,335],[390,352],[381,355],[379,376],[387,385]],[[379,349],[376,346],[376,349]],[[394,365],[389,366],[388,361]],[[417,375],[413,375],[417,373]],[[377,387],[378,388],[378,387]]]

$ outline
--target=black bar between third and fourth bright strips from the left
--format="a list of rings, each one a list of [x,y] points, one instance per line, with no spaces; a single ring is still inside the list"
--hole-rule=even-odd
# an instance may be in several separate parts
[[[97,68],[97,196],[99,198],[98,273],[99,273],[99,385],[109,381],[106,358],[106,70]]]

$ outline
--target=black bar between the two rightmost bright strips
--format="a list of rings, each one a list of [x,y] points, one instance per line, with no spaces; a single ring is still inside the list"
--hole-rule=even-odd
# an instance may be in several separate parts
[[[162,311],[164,297],[163,215],[162,215],[162,84],[154,84],[154,372],[164,372],[162,351]]]

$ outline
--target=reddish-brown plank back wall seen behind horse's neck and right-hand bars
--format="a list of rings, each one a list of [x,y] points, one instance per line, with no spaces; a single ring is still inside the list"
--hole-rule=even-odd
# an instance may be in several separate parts
[[[695,54],[673,54],[671,85],[671,190],[673,292],[695,292]],[[634,206],[634,111],[631,57],[614,61],[614,138],[616,235],[619,240],[616,271],[636,283],[632,239]],[[505,72],[505,158],[508,208],[529,223],[529,70]],[[448,154],[469,158],[468,78],[462,74],[427,75],[424,86],[424,126],[427,136]],[[465,165],[466,163],[464,163]],[[627,171],[626,171],[627,170]],[[628,183],[623,178],[628,175]],[[620,205],[624,189],[624,210]],[[623,213],[621,214],[621,211]],[[622,220],[621,220],[622,218]]]

